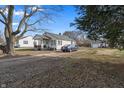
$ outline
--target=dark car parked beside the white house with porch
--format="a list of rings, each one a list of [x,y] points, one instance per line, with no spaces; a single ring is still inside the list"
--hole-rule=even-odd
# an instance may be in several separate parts
[[[69,44],[69,45],[65,45],[61,48],[61,50],[63,52],[72,52],[72,51],[77,51],[78,50],[78,46],[74,45],[74,44]]]

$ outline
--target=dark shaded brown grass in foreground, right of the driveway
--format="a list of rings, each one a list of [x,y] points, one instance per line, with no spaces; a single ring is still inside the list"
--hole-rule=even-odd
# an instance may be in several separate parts
[[[124,87],[124,64],[73,58],[65,61],[62,68],[55,67],[44,72],[43,76],[40,77],[42,79],[39,79],[39,82],[42,83],[38,84],[37,87]],[[37,79],[36,75],[32,80],[37,82]]]

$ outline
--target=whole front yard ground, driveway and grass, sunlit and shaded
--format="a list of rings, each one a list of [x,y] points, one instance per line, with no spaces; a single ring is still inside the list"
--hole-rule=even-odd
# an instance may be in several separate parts
[[[124,51],[80,48],[72,53],[16,50],[0,60],[1,87],[124,87]]]

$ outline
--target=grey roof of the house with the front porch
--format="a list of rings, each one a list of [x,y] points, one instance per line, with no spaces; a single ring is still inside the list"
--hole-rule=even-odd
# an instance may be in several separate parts
[[[68,40],[68,41],[71,41],[73,39],[65,36],[65,35],[58,35],[58,34],[54,34],[54,33],[49,33],[49,32],[45,32],[43,35],[36,35],[34,37],[34,39],[44,39],[44,38],[47,38],[47,39],[53,39],[53,40]]]

